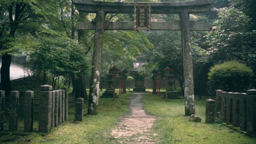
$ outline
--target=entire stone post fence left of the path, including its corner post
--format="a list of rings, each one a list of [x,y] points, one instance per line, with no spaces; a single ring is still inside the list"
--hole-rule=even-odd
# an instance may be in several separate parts
[[[68,120],[67,89],[52,91],[52,86],[40,86],[39,132],[50,132],[52,128]],[[18,129],[19,91],[10,92],[9,131]],[[23,98],[22,98],[23,99]],[[33,132],[33,91],[26,91],[24,98],[24,132]],[[4,91],[0,91],[0,130],[4,121]]]

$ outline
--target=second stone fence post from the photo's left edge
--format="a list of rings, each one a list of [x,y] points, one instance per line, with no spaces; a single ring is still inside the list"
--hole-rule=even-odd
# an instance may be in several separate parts
[[[19,91],[10,92],[9,131],[18,130]]]

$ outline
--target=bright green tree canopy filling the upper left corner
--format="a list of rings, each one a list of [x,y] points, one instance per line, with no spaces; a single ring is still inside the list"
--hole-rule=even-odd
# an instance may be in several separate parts
[[[54,0],[2,0],[0,2],[0,55],[19,48],[20,39],[36,34],[59,35],[51,30],[58,9]],[[51,21],[51,22],[50,22]]]

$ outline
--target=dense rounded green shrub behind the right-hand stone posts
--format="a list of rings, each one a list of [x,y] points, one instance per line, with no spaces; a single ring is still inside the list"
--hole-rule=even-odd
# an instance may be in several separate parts
[[[217,89],[245,92],[250,87],[252,77],[252,69],[237,61],[214,65],[208,73],[208,92],[212,96]]]

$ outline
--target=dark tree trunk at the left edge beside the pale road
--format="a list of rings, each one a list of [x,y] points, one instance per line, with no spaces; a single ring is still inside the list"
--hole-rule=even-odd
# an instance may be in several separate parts
[[[10,63],[12,55],[7,53],[2,55],[1,65],[1,90],[5,91],[6,96],[10,95],[12,91],[12,85],[10,83]]]

